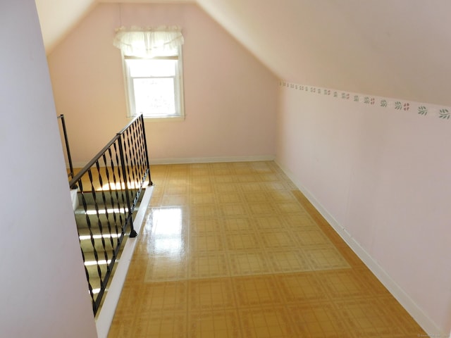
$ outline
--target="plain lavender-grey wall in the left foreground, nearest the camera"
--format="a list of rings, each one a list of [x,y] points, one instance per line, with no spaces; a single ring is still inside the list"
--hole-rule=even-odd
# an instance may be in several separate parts
[[[35,1],[0,2],[0,336],[97,337]]]

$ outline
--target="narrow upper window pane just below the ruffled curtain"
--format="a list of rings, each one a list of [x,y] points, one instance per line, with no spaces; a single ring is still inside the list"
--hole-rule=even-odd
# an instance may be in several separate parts
[[[175,76],[177,60],[127,60],[131,77]]]

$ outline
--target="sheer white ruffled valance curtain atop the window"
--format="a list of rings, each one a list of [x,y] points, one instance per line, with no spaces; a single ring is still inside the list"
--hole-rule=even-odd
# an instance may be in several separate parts
[[[176,56],[183,45],[183,35],[178,26],[120,27],[116,30],[113,45],[125,56]]]

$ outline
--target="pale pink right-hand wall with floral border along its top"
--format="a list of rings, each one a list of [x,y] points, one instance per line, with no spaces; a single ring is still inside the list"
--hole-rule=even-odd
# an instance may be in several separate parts
[[[445,337],[451,108],[334,94],[283,82],[276,161],[414,318]]]

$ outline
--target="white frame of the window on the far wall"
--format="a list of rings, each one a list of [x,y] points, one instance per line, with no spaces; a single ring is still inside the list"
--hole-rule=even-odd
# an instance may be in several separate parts
[[[147,121],[183,121],[185,120],[185,100],[184,100],[184,84],[183,84],[183,53],[182,46],[178,46],[177,55],[172,56],[154,56],[152,58],[139,57],[139,56],[127,56],[122,54],[123,62],[123,76],[125,84],[125,99],[127,102],[127,117],[135,118],[140,115],[135,111],[135,91],[133,79],[139,77],[131,77],[127,60],[175,60],[177,65],[175,67],[175,76],[170,77],[174,79],[174,101],[175,101],[175,114],[174,115],[143,115]],[[168,78],[168,77],[141,77],[141,78]]]

